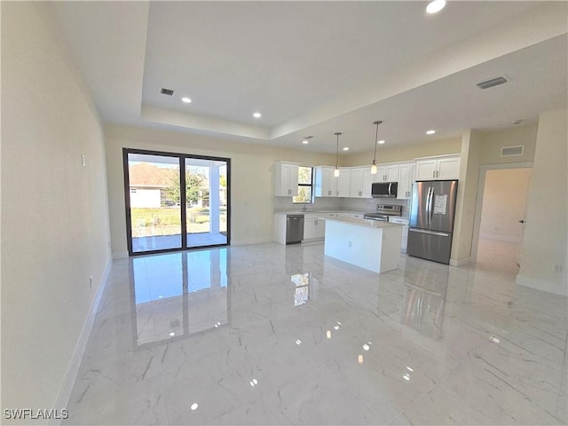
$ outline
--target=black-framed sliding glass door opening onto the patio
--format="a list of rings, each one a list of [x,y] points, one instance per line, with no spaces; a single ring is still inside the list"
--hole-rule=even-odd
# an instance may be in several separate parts
[[[130,256],[229,243],[229,159],[127,148],[123,156]]]

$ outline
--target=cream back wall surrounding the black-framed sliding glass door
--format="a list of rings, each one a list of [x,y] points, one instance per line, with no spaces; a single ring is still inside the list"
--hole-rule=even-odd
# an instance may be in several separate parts
[[[106,170],[114,257],[128,254],[124,220],[123,147],[230,158],[232,245],[273,241],[273,210],[275,207],[288,207],[287,201],[275,201],[273,196],[274,162],[298,162],[305,166],[335,162],[334,154],[312,154],[301,149],[245,144],[232,139],[171,130],[108,126]]]

